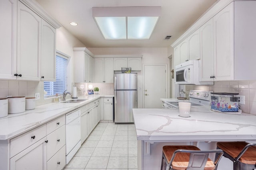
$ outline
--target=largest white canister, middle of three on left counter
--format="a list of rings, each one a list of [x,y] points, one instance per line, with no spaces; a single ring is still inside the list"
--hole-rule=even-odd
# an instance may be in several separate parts
[[[25,111],[26,98],[25,96],[8,97],[8,113],[22,113]]]

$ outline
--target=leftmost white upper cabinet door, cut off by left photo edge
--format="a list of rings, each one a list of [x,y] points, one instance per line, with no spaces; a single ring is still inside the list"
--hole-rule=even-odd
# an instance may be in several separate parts
[[[0,1],[0,78],[16,79],[17,0]]]

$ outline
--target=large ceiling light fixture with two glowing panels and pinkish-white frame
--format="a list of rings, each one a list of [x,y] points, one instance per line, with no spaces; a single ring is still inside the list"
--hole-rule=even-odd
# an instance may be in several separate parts
[[[161,7],[92,7],[105,39],[150,39]]]

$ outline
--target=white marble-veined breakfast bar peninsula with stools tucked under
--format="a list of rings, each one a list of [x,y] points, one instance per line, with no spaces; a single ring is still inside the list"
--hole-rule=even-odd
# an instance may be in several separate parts
[[[190,117],[179,109],[133,109],[138,140],[138,170],[160,169],[164,145],[194,145],[216,149],[218,141],[256,141],[256,115],[219,113],[207,106],[191,106]],[[214,159],[214,155],[210,155]],[[232,170],[222,157],[218,170]]]

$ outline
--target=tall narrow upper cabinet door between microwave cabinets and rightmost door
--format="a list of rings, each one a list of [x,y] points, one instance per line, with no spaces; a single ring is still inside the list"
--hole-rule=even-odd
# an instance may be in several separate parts
[[[200,27],[200,81],[213,81],[213,20]]]

